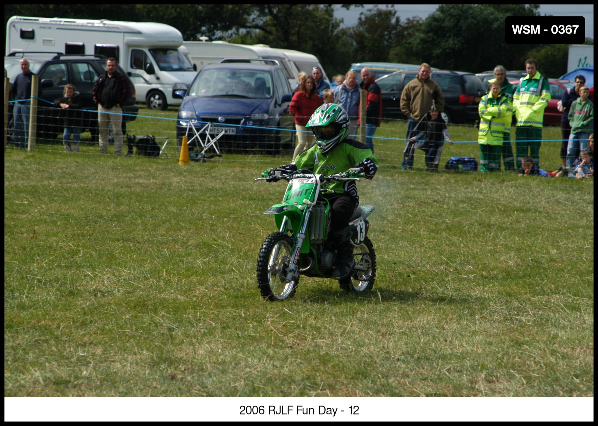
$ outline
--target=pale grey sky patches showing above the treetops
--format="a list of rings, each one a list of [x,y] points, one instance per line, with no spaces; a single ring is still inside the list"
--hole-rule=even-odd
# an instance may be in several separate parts
[[[345,10],[340,6],[335,6],[335,17],[344,19],[344,26],[353,26],[357,23],[359,13],[379,6],[385,8],[386,5],[365,5],[364,8],[352,7]],[[396,4],[395,10],[401,20],[419,16],[423,19],[438,8],[438,4]],[[596,38],[594,35],[594,5],[593,4],[541,4],[540,13],[542,15],[553,16],[583,16],[585,18],[585,36]]]

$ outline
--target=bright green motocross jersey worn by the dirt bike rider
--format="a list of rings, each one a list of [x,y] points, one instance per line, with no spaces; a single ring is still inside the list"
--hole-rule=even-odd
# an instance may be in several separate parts
[[[363,143],[353,139],[345,139],[331,149],[328,154],[322,154],[318,145],[312,145],[295,158],[297,169],[307,168],[313,173],[329,176],[334,173],[347,171],[352,167],[363,167],[366,179],[372,179],[378,170],[378,160],[374,153]],[[346,182],[332,181],[327,188],[337,194],[350,195],[359,200],[357,185],[354,180]]]

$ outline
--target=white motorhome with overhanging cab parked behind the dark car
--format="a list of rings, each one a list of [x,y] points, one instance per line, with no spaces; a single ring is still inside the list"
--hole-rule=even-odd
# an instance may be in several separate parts
[[[182,34],[155,22],[13,16],[6,29],[6,53],[48,51],[115,57],[135,84],[137,99],[151,109],[181,105],[173,90],[187,90],[196,71],[180,49]]]

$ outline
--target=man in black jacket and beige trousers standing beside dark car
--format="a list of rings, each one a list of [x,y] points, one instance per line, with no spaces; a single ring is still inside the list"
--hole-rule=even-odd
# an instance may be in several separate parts
[[[114,154],[123,152],[124,103],[129,99],[129,82],[117,71],[115,58],[106,59],[106,73],[99,76],[93,86],[93,102],[97,105],[97,124],[100,135],[100,154],[108,153],[108,130],[112,123],[114,132]]]

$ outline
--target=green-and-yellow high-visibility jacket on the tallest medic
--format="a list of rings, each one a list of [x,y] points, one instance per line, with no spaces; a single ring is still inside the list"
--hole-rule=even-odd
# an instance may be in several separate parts
[[[517,126],[542,127],[544,108],[550,101],[548,79],[536,72],[521,79],[517,91],[513,94],[513,109],[517,117]]]

